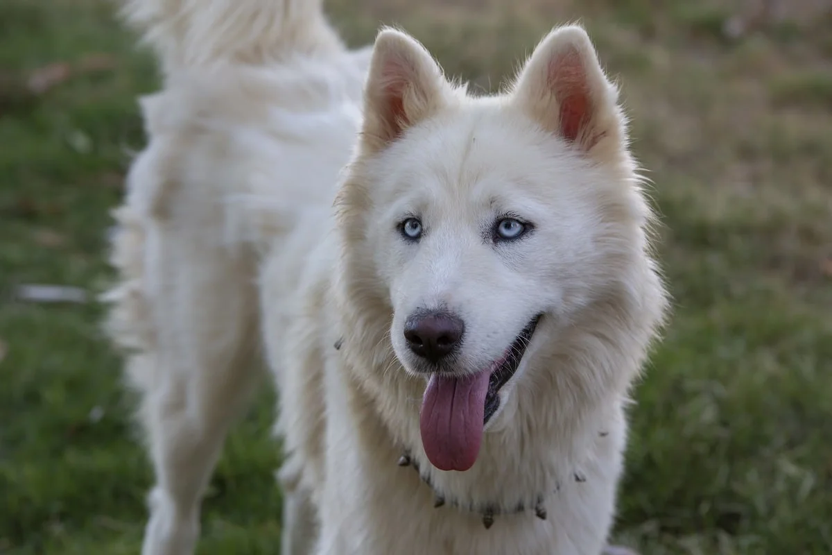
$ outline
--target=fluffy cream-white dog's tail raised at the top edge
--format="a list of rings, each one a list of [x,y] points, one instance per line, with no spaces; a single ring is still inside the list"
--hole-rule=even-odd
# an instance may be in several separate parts
[[[259,64],[342,47],[323,0],[121,0],[168,73],[212,62]]]

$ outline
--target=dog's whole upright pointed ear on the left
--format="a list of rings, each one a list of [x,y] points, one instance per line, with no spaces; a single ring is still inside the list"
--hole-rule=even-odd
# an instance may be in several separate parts
[[[388,146],[445,106],[450,88],[425,47],[404,32],[383,29],[364,87],[364,145],[371,151]]]

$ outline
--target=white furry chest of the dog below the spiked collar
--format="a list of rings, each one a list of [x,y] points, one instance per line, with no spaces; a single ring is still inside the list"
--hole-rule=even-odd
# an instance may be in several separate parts
[[[434,508],[431,488],[411,468],[396,464],[394,448],[367,443],[364,433],[372,424],[363,424],[361,432],[345,421],[334,424],[340,440],[329,447],[339,459],[330,459],[319,555],[600,553],[607,528],[600,521],[612,516],[609,488],[601,480],[565,485],[547,499],[545,520],[533,512],[508,514],[487,529],[481,514]],[[578,551],[576,545],[597,545],[598,551]]]

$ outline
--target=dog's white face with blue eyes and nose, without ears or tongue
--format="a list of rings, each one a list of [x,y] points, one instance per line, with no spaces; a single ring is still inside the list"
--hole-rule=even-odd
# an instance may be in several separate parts
[[[483,104],[379,160],[367,236],[391,342],[415,374],[487,370],[538,317],[543,327],[577,310],[604,271],[599,171]]]

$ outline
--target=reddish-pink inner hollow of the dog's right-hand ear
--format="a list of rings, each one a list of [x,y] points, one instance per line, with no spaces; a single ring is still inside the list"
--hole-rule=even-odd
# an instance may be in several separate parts
[[[568,141],[586,136],[585,127],[592,120],[592,98],[581,55],[570,50],[552,57],[548,84],[560,105],[558,125],[561,135]]]

